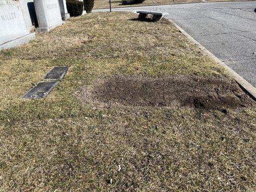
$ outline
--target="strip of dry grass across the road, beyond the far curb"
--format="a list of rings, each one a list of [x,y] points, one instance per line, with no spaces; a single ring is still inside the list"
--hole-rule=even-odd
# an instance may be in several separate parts
[[[207,0],[207,1],[225,1],[225,0]],[[236,0],[234,0],[236,1]],[[175,3],[189,3],[189,2],[201,2],[201,0],[145,0],[140,4],[128,4],[122,5],[122,0],[111,0],[111,7],[137,7],[137,6],[146,6],[146,5],[165,5],[165,4],[175,4]],[[101,8],[109,8],[110,1],[109,0],[95,0],[93,9],[101,9]]]

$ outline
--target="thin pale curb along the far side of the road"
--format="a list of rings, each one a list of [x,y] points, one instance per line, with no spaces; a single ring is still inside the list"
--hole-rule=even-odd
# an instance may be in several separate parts
[[[120,6],[120,7],[112,7],[112,9],[119,8],[132,8],[132,7],[148,7],[148,6],[161,6],[161,5],[179,5],[179,4],[193,4],[193,3],[223,3],[223,2],[243,2],[243,1],[256,1],[256,0],[212,0],[212,1],[193,1],[193,2],[177,2],[177,3],[165,3],[165,4],[148,4],[148,5],[135,5],[135,6]],[[95,8],[92,10],[101,10],[101,9],[110,9],[110,7],[105,8]]]

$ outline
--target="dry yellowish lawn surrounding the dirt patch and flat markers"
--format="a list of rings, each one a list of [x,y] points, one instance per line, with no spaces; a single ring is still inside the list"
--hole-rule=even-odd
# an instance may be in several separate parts
[[[220,110],[100,107],[79,96],[113,75],[225,79],[239,89],[169,21],[136,18],[86,14],[0,52],[0,191],[256,191],[250,98]],[[61,65],[68,72],[49,96],[21,99]]]

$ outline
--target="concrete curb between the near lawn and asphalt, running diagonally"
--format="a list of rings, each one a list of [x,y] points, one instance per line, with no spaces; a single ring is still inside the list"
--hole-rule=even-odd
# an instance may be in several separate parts
[[[239,84],[239,86],[246,92],[249,96],[251,96],[256,101],[256,88],[244,80],[239,74],[234,72],[229,66],[227,66],[223,61],[219,60],[215,55],[213,55],[210,51],[208,51],[204,46],[202,46],[199,42],[197,42],[192,36],[186,33],[179,25],[175,24],[171,19],[167,18],[179,31],[186,36],[190,41],[195,43],[198,48],[200,48],[203,52],[205,52],[210,58],[212,58],[215,62],[217,62],[220,66],[222,66],[228,73],[232,76],[232,78]]]

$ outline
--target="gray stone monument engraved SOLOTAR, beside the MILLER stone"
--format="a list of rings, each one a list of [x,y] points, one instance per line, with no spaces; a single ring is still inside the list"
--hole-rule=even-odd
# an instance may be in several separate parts
[[[61,10],[58,0],[34,0],[39,27],[37,32],[49,32],[64,22],[61,19]]]

